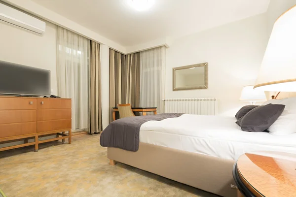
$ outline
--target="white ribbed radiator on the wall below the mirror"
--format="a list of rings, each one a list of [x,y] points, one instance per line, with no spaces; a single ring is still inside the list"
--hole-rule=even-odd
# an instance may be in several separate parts
[[[218,99],[164,99],[164,112],[198,115],[217,115]]]

